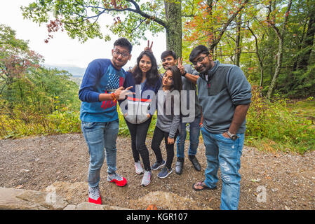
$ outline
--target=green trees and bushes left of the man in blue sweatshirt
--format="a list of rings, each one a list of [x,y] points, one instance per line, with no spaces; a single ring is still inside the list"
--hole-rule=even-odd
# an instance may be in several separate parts
[[[5,35],[7,34],[7,35]],[[0,138],[79,132],[79,86],[0,25]]]

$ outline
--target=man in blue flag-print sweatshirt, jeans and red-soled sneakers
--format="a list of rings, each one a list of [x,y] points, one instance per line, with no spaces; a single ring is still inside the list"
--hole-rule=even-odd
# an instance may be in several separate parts
[[[123,90],[126,71],[122,69],[131,58],[132,48],[126,38],[116,40],[112,59],[95,59],[88,64],[79,90],[81,130],[90,153],[88,202],[91,203],[102,204],[98,184],[105,151],[107,181],[121,187],[127,183],[123,176],[116,174],[116,138],[119,132],[116,105],[117,100],[132,94],[126,93],[130,87]]]

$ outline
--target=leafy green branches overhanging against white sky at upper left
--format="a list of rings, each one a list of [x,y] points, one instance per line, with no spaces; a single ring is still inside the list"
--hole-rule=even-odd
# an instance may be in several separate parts
[[[107,25],[107,28],[114,34],[129,38],[133,43],[139,43],[138,39],[146,39],[145,31],[152,31],[153,34],[163,31],[163,26],[154,22],[156,18],[165,18],[163,10],[161,0],[145,3],[138,0],[133,3],[124,0],[43,0],[34,1],[29,6],[22,7],[24,18],[39,24],[48,24],[51,27],[49,29],[51,33],[66,30],[71,38],[77,38],[81,42],[96,37],[105,38],[105,41],[110,40],[109,34],[102,34],[98,22],[100,16],[107,13],[114,19],[112,25]],[[150,18],[151,15],[153,15],[152,18]]]

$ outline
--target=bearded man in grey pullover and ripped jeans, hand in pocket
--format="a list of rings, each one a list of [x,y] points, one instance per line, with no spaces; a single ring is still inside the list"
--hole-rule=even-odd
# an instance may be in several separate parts
[[[241,153],[251,86],[238,66],[220,64],[208,48],[199,45],[189,55],[197,80],[198,99],[203,112],[201,134],[206,146],[206,179],[194,183],[194,190],[217,188],[220,167],[222,194],[220,209],[238,209]]]

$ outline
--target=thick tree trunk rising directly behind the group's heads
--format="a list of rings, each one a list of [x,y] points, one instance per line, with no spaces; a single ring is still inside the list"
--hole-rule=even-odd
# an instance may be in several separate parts
[[[165,0],[166,14],[166,49],[174,50],[177,57],[182,57],[182,3]]]

